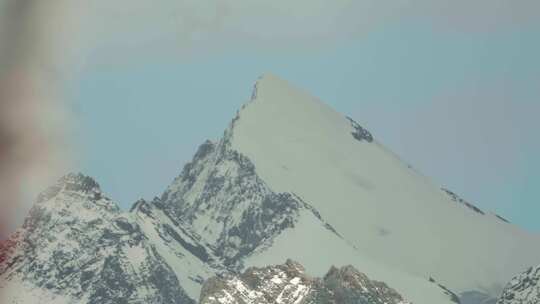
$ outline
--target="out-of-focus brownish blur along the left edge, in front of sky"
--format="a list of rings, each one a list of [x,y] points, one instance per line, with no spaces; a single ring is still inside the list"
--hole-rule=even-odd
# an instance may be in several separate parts
[[[62,3],[0,0],[0,238],[26,213],[33,188],[56,176],[65,159],[54,58]]]

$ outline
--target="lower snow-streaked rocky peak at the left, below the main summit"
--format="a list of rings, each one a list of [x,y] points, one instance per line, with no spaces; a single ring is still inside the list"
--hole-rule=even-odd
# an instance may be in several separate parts
[[[58,303],[194,303],[131,216],[81,174],[40,195],[0,257],[2,303],[43,301],[19,283]]]

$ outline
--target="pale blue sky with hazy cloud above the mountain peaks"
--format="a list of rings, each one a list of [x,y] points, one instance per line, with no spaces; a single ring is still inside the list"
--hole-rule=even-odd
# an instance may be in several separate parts
[[[540,232],[540,2],[88,2],[60,67],[69,169],[123,208],[160,195],[272,72]]]

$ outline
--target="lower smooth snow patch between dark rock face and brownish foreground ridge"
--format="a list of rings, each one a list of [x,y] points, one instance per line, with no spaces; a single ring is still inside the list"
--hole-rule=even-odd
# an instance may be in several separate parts
[[[292,249],[291,249],[292,248]],[[321,225],[311,212],[304,211],[293,229],[278,236],[263,252],[249,257],[246,266],[263,267],[292,259],[300,262],[312,276],[322,277],[332,265],[352,264],[370,279],[384,281],[404,298],[418,304],[451,304],[437,285],[364,256]]]

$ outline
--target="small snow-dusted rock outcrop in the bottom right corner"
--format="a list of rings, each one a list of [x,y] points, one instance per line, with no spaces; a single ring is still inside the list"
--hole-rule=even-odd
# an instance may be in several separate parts
[[[516,276],[504,289],[497,304],[540,303],[540,266]]]

